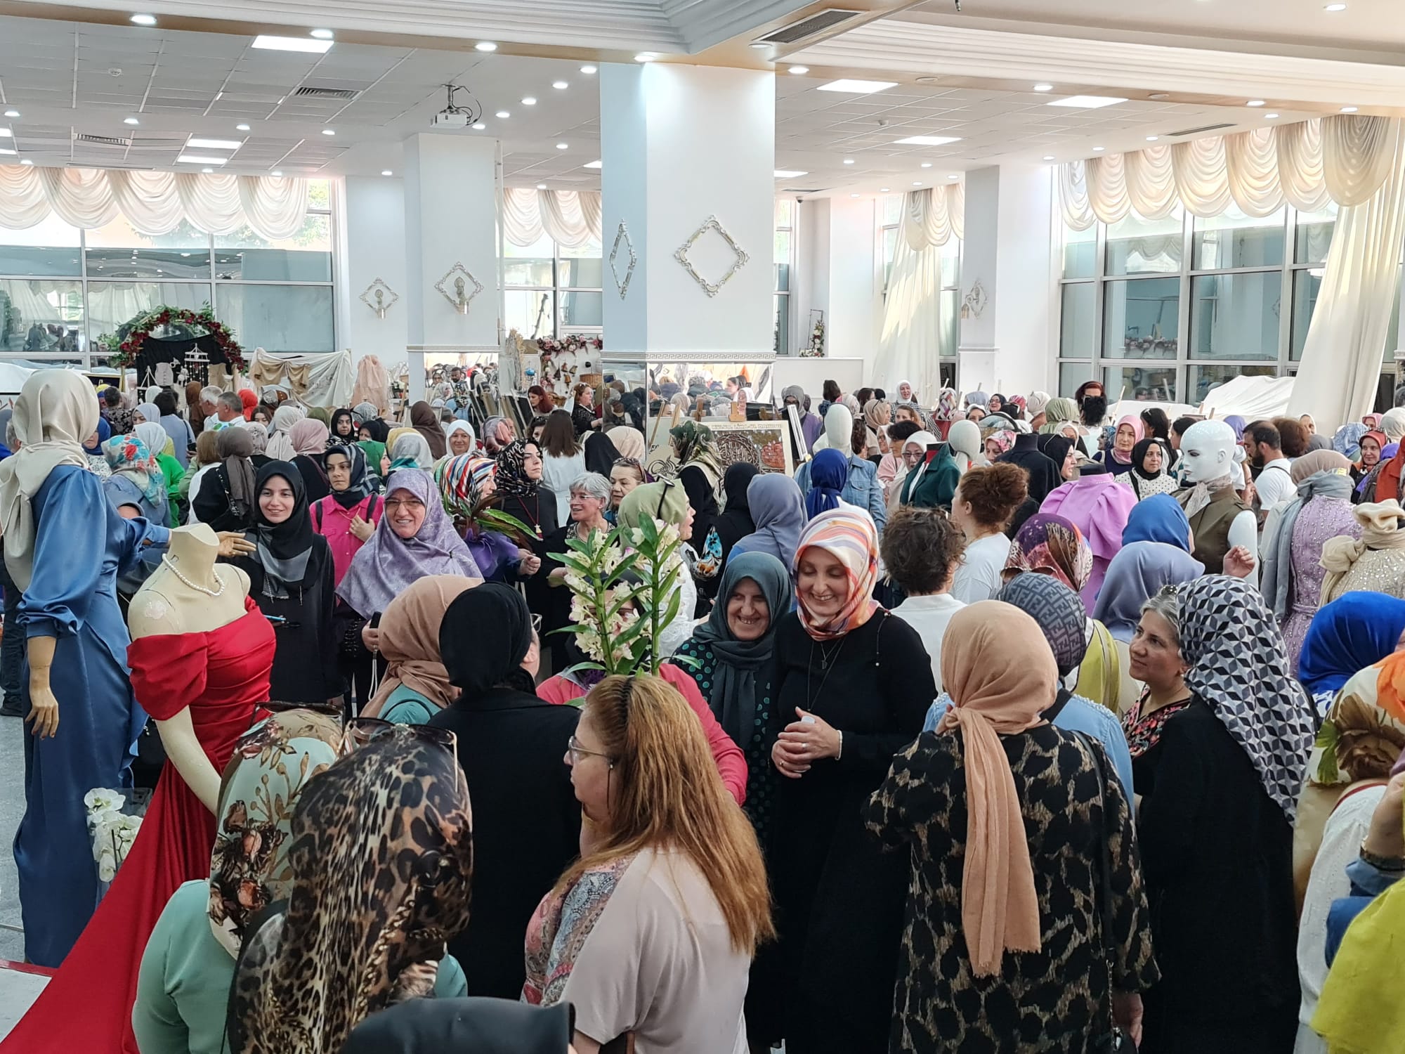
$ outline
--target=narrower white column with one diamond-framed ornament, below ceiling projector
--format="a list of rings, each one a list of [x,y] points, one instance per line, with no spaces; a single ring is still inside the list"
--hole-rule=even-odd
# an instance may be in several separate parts
[[[429,134],[405,141],[405,308],[412,399],[424,393],[426,353],[500,347],[496,225],[495,141]],[[436,288],[440,282],[451,298],[468,298],[466,312],[445,299]]]

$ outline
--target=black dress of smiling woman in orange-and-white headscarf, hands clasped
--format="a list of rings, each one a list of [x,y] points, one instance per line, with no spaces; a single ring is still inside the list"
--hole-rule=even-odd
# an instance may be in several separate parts
[[[839,729],[843,750],[798,780],[777,780],[767,859],[780,940],[752,972],[754,1039],[781,1026],[788,1054],[887,1047],[909,864],[881,850],[863,809],[936,694],[922,638],[888,611],[823,646],[795,613],[777,625],[767,759],[797,707]],[[777,1012],[781,1022],[767,1017]]]

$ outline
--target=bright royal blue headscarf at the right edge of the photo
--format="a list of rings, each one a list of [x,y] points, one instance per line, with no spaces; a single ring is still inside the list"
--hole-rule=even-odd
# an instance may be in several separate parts
[[[1405,600],[1361,590],[1343,593],[1312,616],[1298,655],[1298,680],[1314,696],[1336,691],[1357,670],[1394,652],[1401,632]]]

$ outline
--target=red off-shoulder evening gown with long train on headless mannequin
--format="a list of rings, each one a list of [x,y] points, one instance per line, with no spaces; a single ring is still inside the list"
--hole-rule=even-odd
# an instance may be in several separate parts
[[[246,599],[243,617],[229,625],[143,637],[128,648],[126,661],[142,708],[164,721],[190,707],[205,756],[215,772],[223,772],[235,741],[268,700],[273,653],[273,627]],[[215,815],[167,762],[136,842],[107,895],[0,1050],[138,1054],[132,1003],[146,940],[176,887],[209,876],[214,843]]]

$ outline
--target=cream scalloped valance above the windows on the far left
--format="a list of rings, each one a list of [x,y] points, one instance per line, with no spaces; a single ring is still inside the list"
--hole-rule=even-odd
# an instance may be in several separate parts
[[[306,211],[302,178],[0,164],[0,228],[14,230],[53,212],[84,230],[124,215],[143,235],[167,235],[190,221],[212,235],[249,225],[280,240],[302,229]]]

